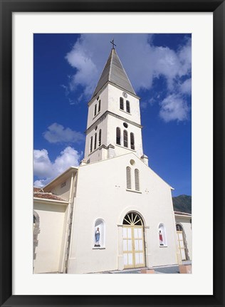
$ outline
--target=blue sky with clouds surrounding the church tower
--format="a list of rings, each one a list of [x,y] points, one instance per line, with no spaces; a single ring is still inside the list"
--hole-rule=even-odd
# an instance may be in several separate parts
[[[43,186],[83,158],[88,101],[115,39],[137,95],[149,165],[192,194],[192,36],[184,34],[34,34],[33,172]]]

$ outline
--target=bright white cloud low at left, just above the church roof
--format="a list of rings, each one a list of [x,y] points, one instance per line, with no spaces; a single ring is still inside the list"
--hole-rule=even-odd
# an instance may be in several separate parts
[[[61,151],[55,161],[51,162],[46,149],[33,150],[33,175],[38,177],[34,185],[43,187],[70,166],[78,166],[82,156],[83,152],[79,153],[73,147],[68,146]]]

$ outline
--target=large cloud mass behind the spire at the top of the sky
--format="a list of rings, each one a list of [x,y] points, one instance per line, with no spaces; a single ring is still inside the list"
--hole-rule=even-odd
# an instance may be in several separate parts
[[[78,70],[71,79],[71,89],[82,85],[85,94],[93,93],[110,53],[111,39],[110,34],[82,34],[76,41],[66,55],[70,66]],[[151,88],[152,79],[160,75],[167,79],[171,89],[177,77],[190,72],[192,55],[189,39],[177,52],[168,47],[150,45],[150,36],[147,34],[115,34],[115,42],[117,53],[135,90]]]

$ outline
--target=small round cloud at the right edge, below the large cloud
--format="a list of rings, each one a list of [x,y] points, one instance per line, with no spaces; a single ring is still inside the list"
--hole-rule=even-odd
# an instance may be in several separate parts
[[[187,120],[189,115],[189,106],[180,95],[169,95],[160,103],[161,109],[159,116],[166,123],[177,120]]]

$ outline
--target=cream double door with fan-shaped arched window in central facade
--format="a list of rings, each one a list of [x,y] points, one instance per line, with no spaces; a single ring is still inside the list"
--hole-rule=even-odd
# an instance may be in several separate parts
[[[144,225],[141,217],[128,213],[122,222],[124,268],[145,266]]]

